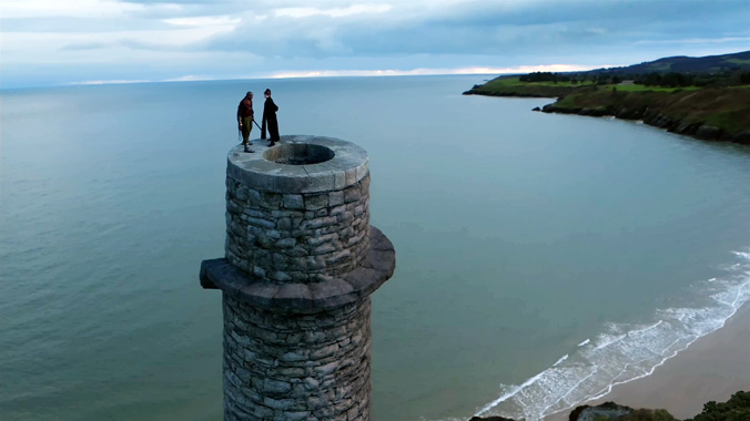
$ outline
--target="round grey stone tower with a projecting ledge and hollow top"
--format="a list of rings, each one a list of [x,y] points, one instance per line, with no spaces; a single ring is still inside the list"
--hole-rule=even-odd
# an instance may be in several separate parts
[[[369,295],[393,276],[367,153],[322,136],[230,151],[221,289],[224,420],[369,420]]]

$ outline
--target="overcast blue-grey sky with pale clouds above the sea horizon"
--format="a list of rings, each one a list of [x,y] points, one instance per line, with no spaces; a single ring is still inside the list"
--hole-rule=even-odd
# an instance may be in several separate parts
[[[0,88],[565,71],[747,50],[750,0],[0,2]]]

